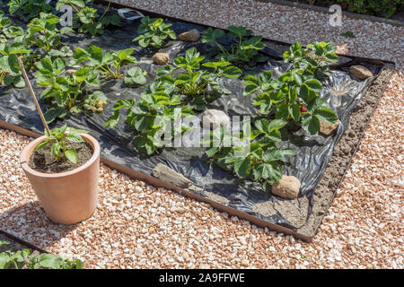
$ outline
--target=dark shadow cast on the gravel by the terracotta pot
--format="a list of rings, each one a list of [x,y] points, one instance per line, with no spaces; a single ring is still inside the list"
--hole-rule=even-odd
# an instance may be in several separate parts
[[[0,230],[42,249],[47,249],[65,238],[79,224],[64,225],[52,222],[38,201],[15,206],[0,214]]]

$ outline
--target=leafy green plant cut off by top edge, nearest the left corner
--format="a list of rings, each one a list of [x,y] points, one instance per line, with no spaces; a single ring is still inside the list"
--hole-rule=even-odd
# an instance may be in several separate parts
[[[45,0],[10,0],[8,6],[10,14],[17,11],[28,14],[26,20],[38,17],[41,12],[52,11],[52,7]]]

